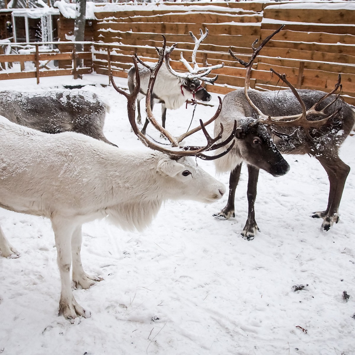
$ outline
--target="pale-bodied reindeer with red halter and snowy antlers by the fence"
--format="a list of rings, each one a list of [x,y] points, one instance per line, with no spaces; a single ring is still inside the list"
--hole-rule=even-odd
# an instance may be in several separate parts
[[[169,63],[169,56],[171,52],[175,49],[177,43],[173,44],[166,51],[165,54],[166,66],[162,67],[159,70],[155,81],[154,90],[151,95],[152,109],[155,103],[162,104],[162,126],[164,128],[165,128],[167,108],[172,110],[178,109],[188,99],[192,99],[193,101],[197,99],[204,102],[208,102],[211,100],[211,95],[207,92],[207,90],[204,87],[201,86],[200,80],[213,84],[217,80],[218,76],[216,75],[213,78],[209,78],[207,77],[207,75],[211,73],[213,69],[222,68],[224,66],[224,63],[222,63],[222,64],[213,65],[209,67],[199,67],[196,62],[197,49],[200,46],[200,43],[207,37],[208,29],[206,28],[205,33],[203,33],[202,30],[200,29],[200,39],[197,39],[191,31],[189,33],[195,42],[195,47],[192,51],[192,66],[190,66],[189,62],[185,60],[182,53],[180,55],[181,57],[180,61],[186,66],[189,72],[179,73],[171,68]],[[138,66],[139,67],[138,73],[141,81],[140,93],[137,96],[137,110],[138,110],[137,123],[138,124],[142,123],[140,101],[142,100],[142,98],[146,96],[147,93],[149,76],[151,73],[149,70],[149,65],[153,65],[153,64],[149,62],[146,63],[141,62],[141,65]],[[132,66],[131,69],[128,71],[128,87],[131,93],[134,91],[136,85],[135,77],[136,77],[136,69],[134,66]],[[146,133],[146,128],[148,123],[149,120],[146,119],[146,122],[144,123],[144,126],[141,130],[143,134]]]

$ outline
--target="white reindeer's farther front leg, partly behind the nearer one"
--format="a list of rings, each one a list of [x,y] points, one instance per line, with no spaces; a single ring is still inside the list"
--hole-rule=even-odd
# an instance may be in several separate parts
[[[93,277],[89,276],[83,270],[83,266],[81,263],[81,242],[82,242],[82,234],[81,234],[81,226],[77,227],[71,238],[71,255],[73,260],[73,283],[77,288],[80,285],[83,289],[88,289],[90,286],[95,284],[95,281],[102,281],[101,277]]]

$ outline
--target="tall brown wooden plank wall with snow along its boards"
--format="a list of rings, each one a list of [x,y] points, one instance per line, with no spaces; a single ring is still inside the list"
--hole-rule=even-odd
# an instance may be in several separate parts
[[[193,43],[189,31],[197,35],[200,28],[208,28],[209,35],[200,45],[196,59],[200,65],[224,62],[223,68],[215,70],[219,75],[217,82],[213,86],[207,84],[209,91],[222,94],[244,86],[245,69],[233,60],[229,48],[237,57],[248,60],[254,40],[263,40],[284,23],[284,30],[258,56],[251,87],[260,90],[279,87],[278,78],[271,76],[271,67],[285,73],[296,88],[323,91],[331,91],[341,73],[345,100],[355,104],[353,2],[96,4],[95,17],[90,21],[92,31],[89,31],[93,41],[92,69],[120,77],[127,76],[134,53],[144,61],[156,60],[155,46],[161,46],[162,34],[168,45],[178,43],[171,54],[171,63],[174,69],[184,70],[179,58],[180,52],[187,60],[191,58]],[[73,20],[61,15],[59,21],[62,42],[70,35]],[[64,48],[66,53],[69,48]],[[4,61],[1,56],[0,61]]]

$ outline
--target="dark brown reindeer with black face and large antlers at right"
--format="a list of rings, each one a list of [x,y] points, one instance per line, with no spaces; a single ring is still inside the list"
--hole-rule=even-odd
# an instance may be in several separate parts
[[[233,58],[247,69],[245,87],[225,96],[222,112],[215,121],[215,125],[217,127],[223,123],[225,134],[230,131],[228,122],[234,120],[249,122],[247,130],[252,127],[264,127],[266,131],[268,127],[266,139],[272,139],[281,153],[309,154],[315,157],[328,174],[330,188],[327,208],[325,211],[314,212],[312,217],[322,218],[322,230],[329,230],[339,220],[339,204],[345,180],[350,171],[350,167],[339,158],[338,151],[353,129],[355,111],[339,95],[334,94],[340,86],[340,76],[334,90],[331,93],[325,93],[315,90],[296,90],[285,75],[280,75],[271,69],[290,89],[278,92],[248,90],[253,61],[263,46],[282,27],[267,37],[260,47],[254,48],[255,43],[253,43],[253,55],[248,63],[236,58],[230,51]],[[257,139],[253,143],[256,146],[263,144]],[[215,161],[219,171],[230,171],[228,202],[222,211],[215,214],[220,219],[235,216],[234,196],[241,164],[243,161],[248,164],[249,211],[247,222],[241,233],[247,239],[253,239],[255,232],[259,230],[255,221],[254,204],[259,168],[262,167],[250,159],[253,150],[255,150],[254,145],[241,147],[240,142],[237,141],[227,155]]]

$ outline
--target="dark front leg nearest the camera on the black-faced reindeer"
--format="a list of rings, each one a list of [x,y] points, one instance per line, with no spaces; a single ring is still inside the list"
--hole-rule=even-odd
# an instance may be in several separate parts
[[[253,165],[248,165],[248,219],[245,223],[244,229],[241,233],[243,237],[247,240],[253,240],[256,231],[260,232],[256,222],[255,222],[255,200],[256,200],[256,190],[259,178],[259,169]]]

